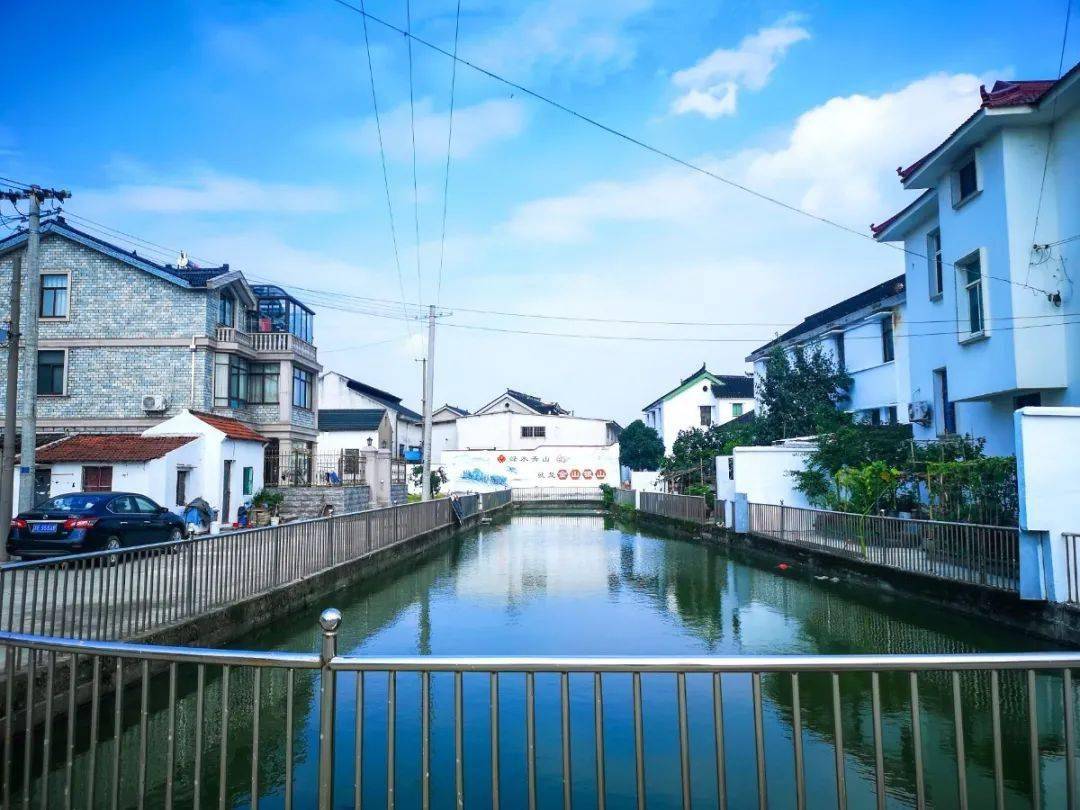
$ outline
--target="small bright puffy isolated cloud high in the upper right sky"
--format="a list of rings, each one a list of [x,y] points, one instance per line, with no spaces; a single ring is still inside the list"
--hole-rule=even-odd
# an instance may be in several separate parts
[[[735,49],[718,48],[672,77],[683,91],[672,103],[672,112],[696,112],[708,119],[734,114],[739,91],[761,90],[787,49],[807,39],[810,32],[798,25],[798,17],[788,15],[744,38]]]

